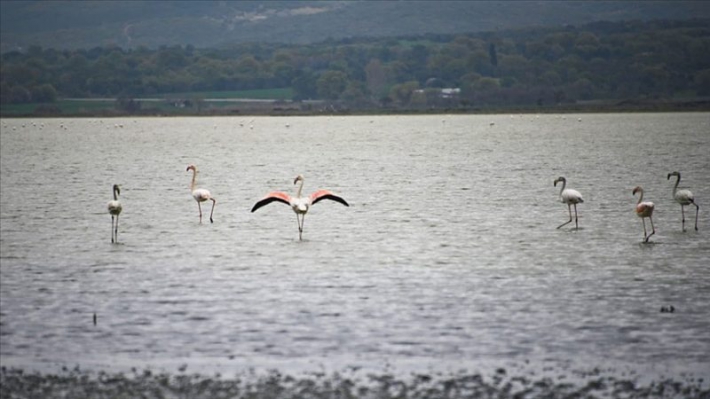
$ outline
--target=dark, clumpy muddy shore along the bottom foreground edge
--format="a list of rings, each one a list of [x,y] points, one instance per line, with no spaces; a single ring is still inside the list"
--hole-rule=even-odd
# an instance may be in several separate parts
[[[41,373],[0,370],[2,398],[708,398],[702,377],[684,375],[641,381],[599,369],[523,372],[497,368],[490,374],[315,372],[301,375],[247,370],[234,376],[133,369],[128,373],[63,368]]]

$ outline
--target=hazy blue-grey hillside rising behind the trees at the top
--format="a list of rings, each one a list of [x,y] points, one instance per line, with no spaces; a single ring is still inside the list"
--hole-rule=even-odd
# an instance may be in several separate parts
[[[197,48],[710,17],[704,1],[0,1],[0,52]]]

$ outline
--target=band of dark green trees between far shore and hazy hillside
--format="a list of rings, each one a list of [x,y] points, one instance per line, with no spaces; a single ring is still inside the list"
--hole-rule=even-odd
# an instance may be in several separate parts
[[[2,54],[0,101],[289,87],[352,108],[559,104],[710,95],[710,20],[597,22],[467,35],[221,48]],[[443,90],[443,89],[458,90]]]

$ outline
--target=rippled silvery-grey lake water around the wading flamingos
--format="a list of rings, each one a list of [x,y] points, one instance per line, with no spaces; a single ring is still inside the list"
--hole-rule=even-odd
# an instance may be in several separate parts
[[[710,375],[708,113],[1,123],[3,365]],[[250,212],[297,174],[350,204],[316,204],[303,241],[287,206]],[[558,176],[579,230],[556,229]]]

